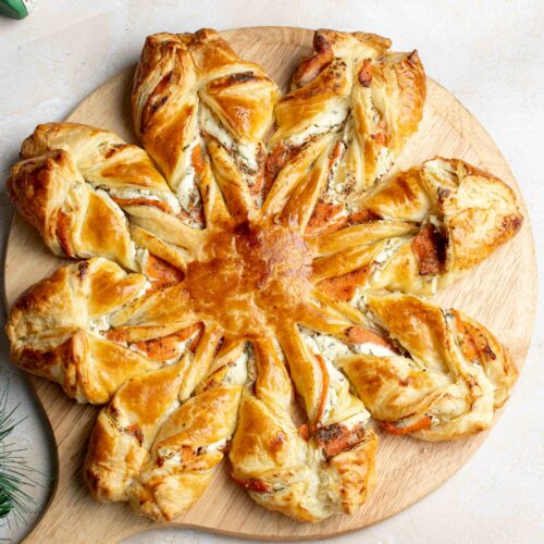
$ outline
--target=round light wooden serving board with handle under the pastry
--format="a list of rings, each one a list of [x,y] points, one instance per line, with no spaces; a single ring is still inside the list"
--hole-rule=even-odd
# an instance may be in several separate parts
[[[223,33],[244,58],[261,63],[285,87],[295,65],[311,50],[312,32],[260,27]],[[424,62],[424,51],[422,52]],[[109,128],[129,141],[129,88],[133,69],[109,81],[86,98],[70,121]],[[429,81],[424,119],[397,169],[436,154],[462,158],[494,173],[519,195],[514,176],[495,144],[478,121],[444,88]],[[536,305],[536,265],[527,212],[518,236],[462,281],[436,297],[484,323],[510,349],[518,367],[529,348]],[[5,260],[9,306],[28,285],[48,275],[61,261],[53,258],[36,232],[15,217]],[[82,461],[97,408],[67,399],[62,390],[33,379],[57,438],[59,474],[55,493],[29,542],[118,542],[159,527],[135,516],[125,504],[102,505],[88,494]],[[453,443],[433,444],[409,437],[381,436],[378,485],[369,502],[351,517],[334,516],[321,523],[299,523],[257,506],[228,478],[223,462],[205,495],[170,526],[201,528],[231,535],[262,539],[323,537],[360,529],[416,503],[454,474],[478,449],[486,433]],[[447,508],[444,505],[444,516]]]

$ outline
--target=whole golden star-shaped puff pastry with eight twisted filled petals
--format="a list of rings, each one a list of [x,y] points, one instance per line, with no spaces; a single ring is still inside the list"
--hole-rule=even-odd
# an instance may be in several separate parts
[[[417,52],[390,46],[317,32],[280,96],[214,32],[159,34],[132,96],[146,150],[71,123],[23,144],[13,202],[84,260],[17,300],[11,356],[106,405],[84,467],[99,500],[172,519],[228,455],[267,508],[351,514],[371,417],[450,440],[508,397],[507,350],[418,297],[514,236],[515,195],[457,159],[387,175],[425,98]]]

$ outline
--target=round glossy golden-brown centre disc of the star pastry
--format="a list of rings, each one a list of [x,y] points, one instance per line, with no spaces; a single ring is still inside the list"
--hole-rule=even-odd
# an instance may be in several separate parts
[[[296,232],[270,223],[223,225],[189,263],[195,309],[236,336],[257,337],[292,319],[311,289],[311,254]]]

